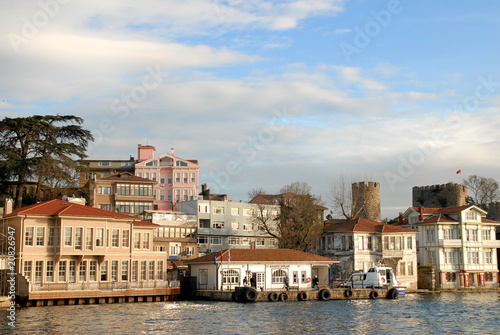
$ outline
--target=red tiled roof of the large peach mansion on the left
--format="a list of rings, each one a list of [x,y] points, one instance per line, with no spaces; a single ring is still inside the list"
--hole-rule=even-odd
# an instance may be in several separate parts
[[[46,215],[46,216],[89,216],[89,217],[110,217],[120,219],[137,220],[135,216],[110,212],[100,208],[78,205],[63,200],[50,200],[22,207],[12,211],[11,214],[5,217],[14,215]]]

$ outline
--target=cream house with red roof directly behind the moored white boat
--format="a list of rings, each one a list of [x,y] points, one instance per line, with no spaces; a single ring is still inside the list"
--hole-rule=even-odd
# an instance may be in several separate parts
[[[417,231],[363,218],[325,222],[318,252],[339,260],[332,278],[342,281],[354,271],[366,272],[378,263],[393,269],[398,283],[417,289]]]

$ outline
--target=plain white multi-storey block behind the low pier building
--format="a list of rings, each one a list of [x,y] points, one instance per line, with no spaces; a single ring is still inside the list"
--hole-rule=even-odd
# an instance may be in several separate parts
[[[197,217],[200,255],[221,248],[277,248],[277,239],[260,228],[255,219],[261,207],[244,202],[204,199],[179,204],[181,212]],[[266,207],[267,213],[278,217],[279,206]]]

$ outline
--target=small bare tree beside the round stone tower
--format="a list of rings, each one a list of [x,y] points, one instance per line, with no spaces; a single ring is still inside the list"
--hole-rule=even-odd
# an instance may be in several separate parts
[[[330,186],[328,198],[332,204],[333,211],[347,220],[360,217],[366,206],[364,189],[353,190],[352,183],[347,184],[344,175],[341,174],[337,182]]]

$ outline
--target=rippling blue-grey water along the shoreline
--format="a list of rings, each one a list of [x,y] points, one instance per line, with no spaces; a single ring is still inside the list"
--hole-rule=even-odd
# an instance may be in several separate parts
[[[500,334],[500,293],[398,300],[157,302],[18,308],[2,334]]]

